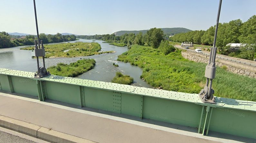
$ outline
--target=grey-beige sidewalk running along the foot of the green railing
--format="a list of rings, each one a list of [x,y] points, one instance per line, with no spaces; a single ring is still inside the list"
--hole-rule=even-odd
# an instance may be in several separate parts
[[[104,114],[101,114],[86,108],[62,106],[54,102],[56,103],[41,102],[38,99],[0,92],[0,115],[100,143],[239,142],[107,115],[103,111]],[[251,141],[249,139],[246,142]]]

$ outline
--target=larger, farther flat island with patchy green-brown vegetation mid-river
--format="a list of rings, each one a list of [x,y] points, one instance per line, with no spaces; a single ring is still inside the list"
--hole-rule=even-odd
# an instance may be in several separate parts
[[[114,51],[99,52],[101,47],[99,43],[62,43],[44,45],[45,58],[57,58],[57,57],[84,57],[97,55],[102,53],[112,53]],[[21,50],[34,50],[34,47],[21,48]],[[35,58],[34,56],[32,58]]]

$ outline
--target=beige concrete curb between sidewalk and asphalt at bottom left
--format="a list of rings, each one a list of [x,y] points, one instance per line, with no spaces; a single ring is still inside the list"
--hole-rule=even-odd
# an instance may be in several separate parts
[[[88,139],[79,138],[2,115],[0,115],[0,126],[52,143],[95,143]]]

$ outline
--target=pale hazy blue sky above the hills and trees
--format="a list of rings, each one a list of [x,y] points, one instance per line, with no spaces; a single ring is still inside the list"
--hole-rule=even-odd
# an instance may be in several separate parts
[[[111,34],[120,30],[216,23],[219,0],[36,0],[39,33]],[[33,0],[0,0],[0,31],[36,34]],[[256,14],[256,0],[223,0],[220,22]]]

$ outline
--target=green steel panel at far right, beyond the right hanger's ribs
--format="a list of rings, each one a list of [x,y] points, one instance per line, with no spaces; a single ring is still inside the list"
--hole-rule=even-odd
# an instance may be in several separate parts
[[[209,130],[256,139],[255,122],[255,112],[213,108]]]

